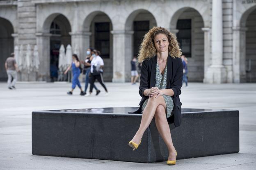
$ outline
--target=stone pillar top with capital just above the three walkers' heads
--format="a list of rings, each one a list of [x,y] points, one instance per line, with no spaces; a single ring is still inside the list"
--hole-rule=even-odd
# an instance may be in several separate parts
[[[90,47],[89,44],[91,32],[70,32],[69,34],[71,35],[71,46],[73,52],[76,46],[78,46],[80,54],[78,57],[84,61],[86,57],[86,50]]]

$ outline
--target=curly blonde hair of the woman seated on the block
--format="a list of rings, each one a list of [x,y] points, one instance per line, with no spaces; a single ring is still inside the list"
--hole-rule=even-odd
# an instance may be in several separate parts
[[[144,39],[139,47],[138,61],[142,63],[145,59],[149,59],[156,55],[154,38],[158,34],[165,34],[169,41],[168,52],[171,57],[181,57],[181,49],[179,48],[177,38],[163,27],[153,27],[144,35]]]

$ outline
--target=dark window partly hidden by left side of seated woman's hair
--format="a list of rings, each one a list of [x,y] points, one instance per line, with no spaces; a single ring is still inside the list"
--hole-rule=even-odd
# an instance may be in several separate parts
[[[149,20],[133,22],[133,55],[139,53],[139,45],[142,43],[144,35],[149,31]]]

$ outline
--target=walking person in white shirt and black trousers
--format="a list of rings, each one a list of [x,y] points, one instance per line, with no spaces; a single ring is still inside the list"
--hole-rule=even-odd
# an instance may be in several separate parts
[[[105,89],[105,91],[106,91],[105,95],[108,94],[108,91],[104,84],[103,76],[102,76],[104,62],[103,62],[103,59],[99,55],[101,55],[100,51],[93,50],[92,56],[94,58],[91,60],[90,95],[92,93],[92,88],[94,86],[94,82],[96,79],[101,84],[101,86],[103,86],[103,88]]]

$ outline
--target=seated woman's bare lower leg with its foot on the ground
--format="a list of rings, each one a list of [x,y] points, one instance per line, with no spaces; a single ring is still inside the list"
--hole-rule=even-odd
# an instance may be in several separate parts
[[[155,111],[155,125],[158,129],[159,134],[162,136],[162,139],[165,141],[169,151],[168,160],[176,159],[176,150],[171,140],[171,131],[169,124],[166,119],[165,107],[159,105]]]

